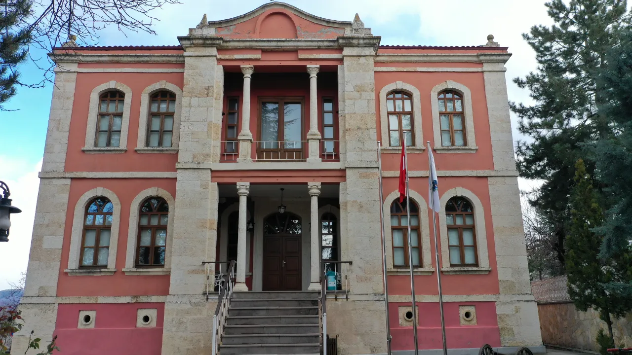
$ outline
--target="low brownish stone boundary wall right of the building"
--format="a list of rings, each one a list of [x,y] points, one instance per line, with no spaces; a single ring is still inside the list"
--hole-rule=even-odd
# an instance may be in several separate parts
[[[558,346],[576,347],[599,351],[595,342],[599,329],[608,332],[605,322],[599,319],[599,312],[589,309],[579,311],[573,303],[538,304],[542,342]],[[632,344],[632,313],[612,324],[614,341]]]

